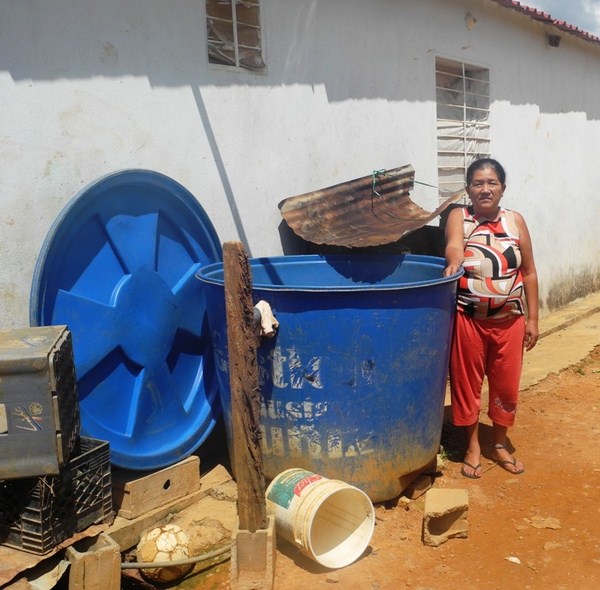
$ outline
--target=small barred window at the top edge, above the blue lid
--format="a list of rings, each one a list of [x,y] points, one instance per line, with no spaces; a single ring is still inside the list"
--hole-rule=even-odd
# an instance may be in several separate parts
[[[208,62],[261,71],[259,0],[206,0]]]

